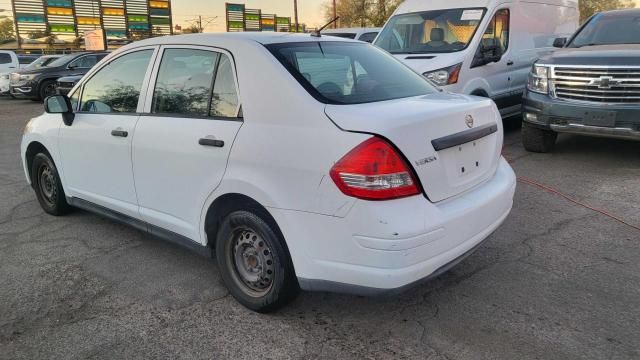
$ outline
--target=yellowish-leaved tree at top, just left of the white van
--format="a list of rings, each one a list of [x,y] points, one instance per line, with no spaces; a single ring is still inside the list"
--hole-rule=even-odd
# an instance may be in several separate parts
[[[382,26],[401,2],[402,0],[336,0],[339,26]],[[324,5],[324,18],[327,22],[333,19],[332,0]]]

